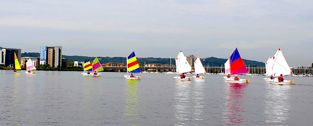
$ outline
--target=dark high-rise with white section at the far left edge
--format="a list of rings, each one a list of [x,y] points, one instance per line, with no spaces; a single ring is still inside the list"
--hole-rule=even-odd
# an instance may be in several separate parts
[[[7,67],[15,67],[14,53],[16,54],[18,61],[21,62],[21,49],[0,47],[0,50],[1,50],[0,64]]]

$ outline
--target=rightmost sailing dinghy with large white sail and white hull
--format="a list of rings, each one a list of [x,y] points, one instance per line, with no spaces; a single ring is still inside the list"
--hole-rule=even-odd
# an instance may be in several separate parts
[[[292,75],[293,72],[291,71],[289,65],[287,64],[287,61],[285,60],[285,57],[280,50],[280,48],[277,50],[275,55],[273,56],[273,76],[280,76],[282,74],[285,75]],[[269,80],[269,83],[271,84],[293,84],[292,81],[284,80],[283,82],[279,82],[278,80]]]

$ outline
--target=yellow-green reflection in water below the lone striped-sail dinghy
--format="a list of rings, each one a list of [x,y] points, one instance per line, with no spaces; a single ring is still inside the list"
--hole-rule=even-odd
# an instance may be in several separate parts
[[[126,123],[135,123],[138,118],[137,108],[137,91],[138,91],[138,80],[127,80],[127,96],[126,96],[126,110],[125,116],[129,121]]]

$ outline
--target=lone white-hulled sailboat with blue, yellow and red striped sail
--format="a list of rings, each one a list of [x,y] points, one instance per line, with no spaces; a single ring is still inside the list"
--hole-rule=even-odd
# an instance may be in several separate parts
[[[135,76],[131,77],[131,75],[128,75],[128,73],[140,73],[140,68],[139,64],[135,55],[135,52],[132,52],[131,55],[126,57],[126,62],[127,62],[127,75],[124,75],[126,79],[138,79],[140,80],[141,76]]]

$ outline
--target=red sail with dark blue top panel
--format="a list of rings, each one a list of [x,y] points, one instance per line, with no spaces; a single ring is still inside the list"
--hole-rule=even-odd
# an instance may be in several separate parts
[[[239,75],[249,73],[247,67],[244,64],[244,61],[241,59],[239,52],[236,50],[230,56],[230,74]]]

